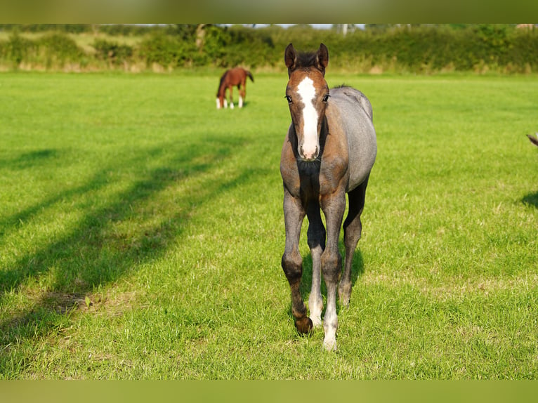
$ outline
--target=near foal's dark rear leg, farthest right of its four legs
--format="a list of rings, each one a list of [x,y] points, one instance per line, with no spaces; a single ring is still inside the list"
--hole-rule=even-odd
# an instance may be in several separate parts
[[[362,232],[360,215],[362,214],[362,209],[365,208],[367,185],[368,178],[348,194],[349,212],[346,221],[343,223],[343,242],[346,245],[346,261],[343,265],[343,275],[338,287],[340,303],[343,306],[349,305],[349,298],[351,296],[351,265],[353,264],[353,254],[355,253]]]

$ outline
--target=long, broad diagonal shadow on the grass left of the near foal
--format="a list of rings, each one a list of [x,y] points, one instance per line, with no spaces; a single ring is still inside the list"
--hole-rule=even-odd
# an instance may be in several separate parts
[[[205,138],[191,145],[143,152],[121,165],[112,162],[84,185],[59,192],[1,220],[0,234],[7,234],[19,231],[24,226],[21,220],[32,222],[43,209],[66,199],[84,209],[84,218],[73,230],[20,256],[11,267],[0,271],[0,304],[8,292],[36,294],[28,296],[31,307],[1,320],[0,346],[53,331],[59,322],[65,322],[66,312],[84,304],[85,295],[162,256],[168,244],[181,236],[194,206],[240,187],[261,173],[237,169],[234,174],[221,169],[223,161],[240,152],[243,143],[237,138]],[[150,154],[159,164],[145,169]],[[114,193],[110,201],[92,202],[111,185],[109,173],[126,166],[137,167],[131,185]],[[177,202],[158,198],[155,202],[162,190],[192,179],[192,188],[178,194]],[[153,214],[155,209],[158,212]],[[124,222],[131,223],[129,230],[117,230],[117,225]],[[47,286],[27,286],[43,276],[48,277]]]

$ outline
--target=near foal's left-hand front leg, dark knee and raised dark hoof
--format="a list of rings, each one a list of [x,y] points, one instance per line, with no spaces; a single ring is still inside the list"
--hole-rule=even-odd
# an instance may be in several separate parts
[[[306,316],[306,306],[301,296],[301,277],[303,276],[303,258],[299,252],[299,237],[305,211],[301,200],[291,196],[284,187],[284,224],[286,225],[286,246],[282,255],[282,269],[291,289],[291,313],[299,333],[308,333],[312,321]]]

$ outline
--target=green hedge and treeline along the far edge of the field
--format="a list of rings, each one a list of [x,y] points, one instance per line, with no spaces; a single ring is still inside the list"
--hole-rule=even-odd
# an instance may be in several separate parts
[[[1,70],[283,70],[284,48],[324,42],[333,69],[538,72],[538,29],[516,25],[0,25]]]

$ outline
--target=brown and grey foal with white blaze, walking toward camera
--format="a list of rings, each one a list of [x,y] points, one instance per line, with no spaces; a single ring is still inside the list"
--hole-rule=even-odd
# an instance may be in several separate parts
[[[323,344],[327,350],[336,350],[336,291],[341,304],[348,306],[353,253],[362,230],[360,215],[377,152],[372,105],[363,93],[348,86],[329,91],[324,79],[329,51],[324,44],[320,44],[315,53],[298,53],[289,44],[284,61],[289,76],[285,98],[289,103],[291,125],[280,159],[286,227],[282,269],[291,289],[291,312],[299,333],[308,333],[313,326],[322,324],[320,273],[323,274],[327,285]],[[341,276],[339,235],[346,193],[349,211],[343,223],[346,260]],[[308,246],[312,254],[310,317],[306,315],[299,290],[303,259],[298,244],[305,215],[308,216]]]

